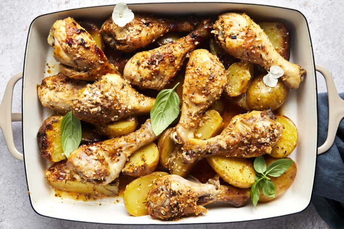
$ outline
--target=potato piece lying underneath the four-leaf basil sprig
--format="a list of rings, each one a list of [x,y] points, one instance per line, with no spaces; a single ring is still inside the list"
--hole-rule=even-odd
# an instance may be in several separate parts
[[[265,158],[265,162],[266,162],[267,166],[269,166],[269,164],[271,164],[272,162],[278,160],[278,158],[273,158],[273,157],[270,157],[268,155],[265,155],[264,158]],[[291,159],[291,158],[289,158],[289,159]],[[293,181],[295,179],[296,172],[297,172],[297,168],[296,168],[296,164],[294,162],[289,167],[289,169],[287,169],[287,171],[285,173],[283,173],[282,175],[280,175],[279,177],[268,176],[271,179],[271,181],[275,184],[275,187],[276,187],[275,198],[282,195],[291,186],[291,184],[293,183]],[[258,202],[259,203],[268,202],[268,201],[271,201],[275,198],[263,195],[263,192],[260,190],[260,197],[259,197]]]

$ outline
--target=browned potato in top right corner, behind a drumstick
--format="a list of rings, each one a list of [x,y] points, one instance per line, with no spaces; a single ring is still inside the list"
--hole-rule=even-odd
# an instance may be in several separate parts
[[[258,25],[264,30],[279,55],[289,60],[290,43],[288,28],[281,22],[261,22]]]

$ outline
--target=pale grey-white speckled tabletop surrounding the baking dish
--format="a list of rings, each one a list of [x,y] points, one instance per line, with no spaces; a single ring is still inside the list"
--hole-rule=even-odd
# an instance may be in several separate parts
[[[10,77],[23,68],[24,51],[31,21],[40,14],[94,5],[115,4],[109,0],[31,0],[0,1],[0,98]],[[130,1],[128,2],[139,2]],[[154,2],[154,1],[150,1]],[[170,0],[169,2],[173,2]],[[344,91],[344,13],[339,0],[255,0],[251,2],[271,4],[300,10],[310,26],[316,64],[325,66],[333,75],[337,90]],[[318,73],[318,91],[326,86]],[[21,81],[13,94],[13,112],[21,112]],[[1,112],[1,111],[0,111]],[[13,124],[15,144],[22,148],[21,123]],[[39,216],[31,208],[23,162],[15,160],[8,152],[0,134],[0,228],[116,228],[119,226],[96,225],[83,222],[50,219]],[[92,217],[92,214],[90,214]],[[230,216],[229,216],[230,217]],[[148,228],[149,226],[122,226],[121,228]],[[186,228],[170,226],[168,228]],[[194,225],[190,228],[330,228],[310,205],[301,213],[273,219],[239,222],[232,224]],[[153,226],[152,228],[161,228]]]

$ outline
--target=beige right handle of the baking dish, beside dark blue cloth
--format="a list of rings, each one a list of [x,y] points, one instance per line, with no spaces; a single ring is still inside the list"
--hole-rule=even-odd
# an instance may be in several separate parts
[[[318,147],[319,155],[330,149],[334,142],[339,122],[344,117],[344,100],[339,97],[330,71],[321,65],[315,65],[315,70],[319,71],[325,78],[329,98],[329,128],[327,129],[326,141]]]

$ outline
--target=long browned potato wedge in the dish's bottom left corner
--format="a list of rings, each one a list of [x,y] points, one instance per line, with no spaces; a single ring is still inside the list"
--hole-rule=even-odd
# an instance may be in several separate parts
[[[96,185],[89,182],[78,182],[75,172],[69,170],[66,160],[54,163],[45,170],[45,179],[57,190],[77,194],[89,194],[89,197],[114,196],[118,193],[118,179],[107,185]]]

